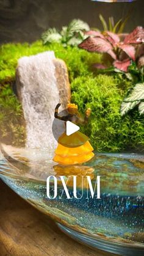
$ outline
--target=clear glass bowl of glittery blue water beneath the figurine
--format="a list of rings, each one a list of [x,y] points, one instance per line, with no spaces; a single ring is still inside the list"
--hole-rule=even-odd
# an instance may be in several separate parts
[[[0,177],[18,195],[58,222],[60,229],[77,241],[122,255],[144,252],[144,155],[96,153],[83,165],[59,166],[51,152],[1,145]],[[57,197],[46,195],[46,178],[57,178]],[[67,199],[60,175],[65,181],[77,175],[77,197],[73,178],[67,181]],[[86,177],[93,188],[101,176],[101,199],[87,198]],[[84,177],[82,189],[82,176]],[[50,193],[54,194],[51,180]],[[83,194],[82,194],[83,192]]]

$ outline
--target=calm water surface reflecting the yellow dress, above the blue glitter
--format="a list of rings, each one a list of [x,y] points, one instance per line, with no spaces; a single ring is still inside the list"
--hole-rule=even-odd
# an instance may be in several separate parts
[[[144,156],[137,154],[101,153],[82,165],[61,166],[52,161],[52,153],[46,150],[15,148],[2,145],[2,154],[8,160],[5,172],[20,175],[23,178],[46,181],[49,175],[90,176],[93,185],[97,176],[101,176],[101,192],[128,196],[143,196]],[[10,164],[12,172],[9,171]],[[70,186],[71,186],[71,182]]]

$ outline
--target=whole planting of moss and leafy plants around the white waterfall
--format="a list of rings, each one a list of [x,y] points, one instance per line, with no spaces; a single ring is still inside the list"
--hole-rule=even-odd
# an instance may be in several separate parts
[[[90,136],[95,150],[143,149],[144,29],[139,26],[124,34],[128,17],[116,23],[110,17],[109,25],[102,15],[99,18],[103,31],[97,27],[90,29],[84,21],[73,20],[60,31],[49,28],[31,45],[10,43],[1,46],[1,139],[6,139],[13,131],[12,143],[24,142],[21,104],[12,90],[18,59],[53,50],[56,57],[67,64],[71,101],[81,112],[85,107],[93,110],[90,125],[82,130]],[[23,134],[21,139],[20,133]]]

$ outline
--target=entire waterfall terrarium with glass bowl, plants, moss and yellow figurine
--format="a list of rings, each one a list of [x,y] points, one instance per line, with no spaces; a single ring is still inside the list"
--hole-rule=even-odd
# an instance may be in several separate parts
[[[73,238],[133,255],[143,246],[144,29],[124,33],[128,17],[117,22],[110,17],[109,24],[99,18],[103,31],[74,19],[59,30],[49,28],[32,44],[1,45],[1,177]],[[64,76],[68,83],[57,82]],[[59,111],[65,100],[60,92],[67,98],[67,115]],[[63,131],[56,141],[54,117],[66,128],[68,121],[80,123],[81,132],[71,140]],[[47,196],[46,187],[55,190],[55,182],[46,186],[48,175],[58,177],[63,198]],[[70,181],[67,200],[59,177],[66,185],[70,175],[78,175],[80,197],[73,197]],[[93,188],[101,177],[99,200],[81,197],[81,177],[89,177]]]

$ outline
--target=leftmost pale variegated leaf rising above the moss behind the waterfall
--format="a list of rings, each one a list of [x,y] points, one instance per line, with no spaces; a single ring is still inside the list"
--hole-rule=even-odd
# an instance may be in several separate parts
[[[43,40],[43,44],[46,43],[52,43],[52,42],[60,42],[62,39],[62,35],[59,34],[59,32],[56,30],[56,28],[48,29],[48,31],[45,31],[41,38]]]

